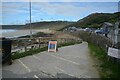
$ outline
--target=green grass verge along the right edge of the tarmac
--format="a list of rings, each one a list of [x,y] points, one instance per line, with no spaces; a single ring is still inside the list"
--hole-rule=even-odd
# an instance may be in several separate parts
[[[120,64],[113,59],[108,60],[107,53],[98,46],[91,43],[89,43],[88,46],[90,53],[98,60],[97,64],[101,78],[103,80],[106,78],[118,79],[120,74]]]

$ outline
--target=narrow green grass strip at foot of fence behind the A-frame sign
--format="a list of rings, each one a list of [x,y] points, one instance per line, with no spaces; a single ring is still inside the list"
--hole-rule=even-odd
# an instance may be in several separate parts
[[[69,46],[69,45],[74,45],[74,44],[79,44],[81,42],[67,42],[65,44],[60,44],[58,45],[58,48],[59,47],[63,47],[63,46]],[[46,51],[48,49],[48,47],[43,47],[43,48],[38,48],[38,49],[31,49],[29,51],[26,51],[26,52],[16,52],[12,55],[12,59],[15,60],[15,59],[19,59],[19,58],[22,58],[22,57],[26,57],[26,56],[30,56],[30,55],[33,55],[33,54],[37,54],[37,53],[40,53],[42,51]]]

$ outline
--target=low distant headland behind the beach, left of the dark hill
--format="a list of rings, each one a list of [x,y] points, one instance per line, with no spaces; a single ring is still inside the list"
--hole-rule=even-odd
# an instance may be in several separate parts
[[[43,21],[31,23],[32,29],[52,29],[59,30],[67,25],[73,24],[74,22],[68,21]],[[25,25],[2,25],[2,29],[29,29],[30,24]]]

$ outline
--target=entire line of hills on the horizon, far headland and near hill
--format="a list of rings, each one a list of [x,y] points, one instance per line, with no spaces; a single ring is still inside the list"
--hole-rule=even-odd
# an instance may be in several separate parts
[[[66,27],[91,27],[91,28],[100,28],[104,22],[115,23],[120,20],[120,12],[116,13],[93,13],[90,14],[83,19],[80,19],[77,22],[69,22],[69,21],[42,21],[42,22],[34,22],[32,23],[32,29],[54,29],[60,30]],[[3,29],[29,29],[29,23],[25,25],[3,25]]]

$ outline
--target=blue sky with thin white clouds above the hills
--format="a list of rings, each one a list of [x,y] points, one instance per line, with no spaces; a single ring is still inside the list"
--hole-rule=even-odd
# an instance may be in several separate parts
[[[32,22],[78,21],[92,13],[118,12],[118,2],[32,2]],[[2,2],[0,24],[29,23],[29,2]]]

